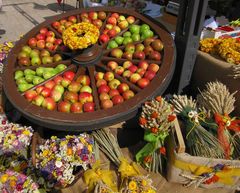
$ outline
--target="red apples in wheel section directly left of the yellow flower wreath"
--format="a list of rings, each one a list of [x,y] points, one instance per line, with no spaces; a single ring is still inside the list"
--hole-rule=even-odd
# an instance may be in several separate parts
[[[55,51],[60,44],[62,44],[62,39],[56,38],[55,33],[45,27],[40,29],[39,34],[28,40],[28,46],[31,48],[46,48],[50,51]]]

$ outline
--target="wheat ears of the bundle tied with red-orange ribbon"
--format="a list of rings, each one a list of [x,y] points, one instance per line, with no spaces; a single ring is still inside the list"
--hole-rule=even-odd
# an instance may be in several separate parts
[[[234,110],[236,92],[231,94],[226,85],[221,82],[207,83],[206,89],[200,93],[197,97],[200,107],[221,115],[230,114]]]

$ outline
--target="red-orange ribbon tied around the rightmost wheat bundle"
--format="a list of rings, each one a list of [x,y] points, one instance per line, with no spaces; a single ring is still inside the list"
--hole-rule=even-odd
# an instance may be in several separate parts
[[[221,143],[224,153],[225,153],[225,158],[229,159],[230,158],[230,153],[231,153],[231,147],[230,143],[224,134],[224,130],[232,130],[235,132],[240,131],[240,120],[231,120],[231,118],[228,115],[220,115],[218,113],[215,113],[215,122],[218,124],[218,140]]]

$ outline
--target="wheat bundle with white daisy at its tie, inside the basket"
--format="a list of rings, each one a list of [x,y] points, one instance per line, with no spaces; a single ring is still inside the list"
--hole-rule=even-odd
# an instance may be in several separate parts
[[[223,158],[223,150],[218,139],[202,127],[206,122],[205,112],[198,112],[196,101],[186,95],[174,95],[171,100],[175,112],[184,122],[185,142],[189,153],[194,156]]]

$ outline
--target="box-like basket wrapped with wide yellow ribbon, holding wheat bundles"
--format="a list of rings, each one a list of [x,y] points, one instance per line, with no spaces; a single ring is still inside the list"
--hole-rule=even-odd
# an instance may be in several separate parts
[[[175,129],[168,141],[167,180],[189,186],[239,190],[240,160],[213,159],[189,155],[185,152],[186,148],[181,132],[184,127],[180,128],[177,120],[174,124]],[[215,169],[220,166],[223,167],[219,170]],[[209,180],[205,181],[207,179]]]

